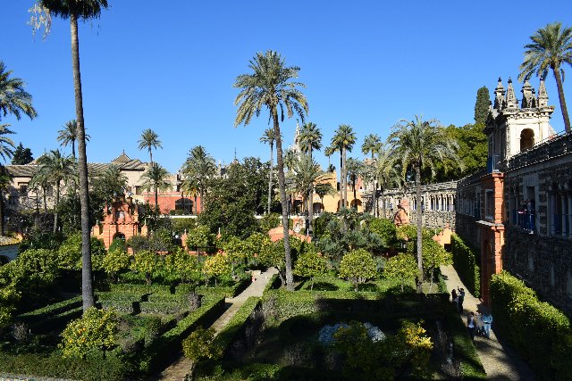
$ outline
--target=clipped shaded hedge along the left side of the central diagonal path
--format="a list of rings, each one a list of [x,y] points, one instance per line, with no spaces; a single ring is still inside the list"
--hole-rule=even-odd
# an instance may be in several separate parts
[[[198,326],[208,327],[221,316],[224,311],[224,297],[205,302],[186,318],[181,319],[172,329],[160,335],[156,342],[146,348],[142,356],[140,369],[154,372],[168,365],[169,360],[181,351],[181,342]]]

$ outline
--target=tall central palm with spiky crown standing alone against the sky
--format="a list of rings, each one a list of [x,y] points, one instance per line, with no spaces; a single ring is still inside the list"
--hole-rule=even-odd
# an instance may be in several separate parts
[[[288,199],[286,198],[280,121],[284,120],[284,113],[286,113],[288,118],[297,114],[304,122],[304,116],[308,112],[308,105],[306,96],[302,94],[299,87],[306,86],[301,82],[292,80],[298,78],[299,67],[286,66],[282,56],[270,50],[265,54],[257,53],[250,61],[248,67],[253,72],[251,74],[241,74],[234,82],[234,87],[240,88],[240,93],[234,100],[234,104],[239,106],[234,125],[239,126],[242,123],[247,125],[253,116],[260,114],[263,107],[268,109],[273,120],[274,135],[276,137],[276,155],[278,158],[278,185],[282,203],[286,288],[293,291],[294,279],[290,258],[290,236],[288,235]]]

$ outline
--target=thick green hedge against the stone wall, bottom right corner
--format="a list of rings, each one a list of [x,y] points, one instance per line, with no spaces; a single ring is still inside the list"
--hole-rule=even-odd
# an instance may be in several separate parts
[[[572,329],[568,317],[507,271],[491,280],[492,325],[540,379],[569,379]]]

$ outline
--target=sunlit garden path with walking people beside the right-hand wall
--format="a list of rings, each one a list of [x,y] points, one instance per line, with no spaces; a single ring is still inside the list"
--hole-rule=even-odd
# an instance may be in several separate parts
[[[467,313],[484,309],[483,303],[467,292],[467,286],[461,282],[457,271],[453,266],[442,266],[442,275],[445,277],[447,289],[463,287],[466,290],[465,301],[463,302],[463,323],[467,323]],[[494,315],[492,316],[494,319]],[[492,321],[494,327],[494,320]],[[479,358],[483,363],[484,371],[489,380],[534,380],[534,374],[528,367],[526,362],[519,359],[517,354],[513,352],[507,345],[502,344],[491,331],[491,338],[475,336],[475,348],[479,354]]]

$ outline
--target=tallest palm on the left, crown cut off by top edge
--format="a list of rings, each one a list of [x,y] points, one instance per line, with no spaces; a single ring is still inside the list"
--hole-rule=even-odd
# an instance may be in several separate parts
[[[83,95],[81,93],[80,73],[80,39],[78,20],[99,18],[102,9],[107,8],[107,0],[37,0],[38,7],[62,19],[70,19],[71,29],[71,67],[73,70],[73,88],[75,92],[75,114],[78,123],[78,171],[80,175],[81,204],[81,296],[83,311],[96,304],[93,294],[91,276],[91,224],[89,223],[89,184],[88,157],[86,153],[86,130],[83,119]],[[39,18],[38,20],[42,20]],[[49,29],[50,17],[46,21],[46,32]],[[39,28],[40,26],[38,26]]]

